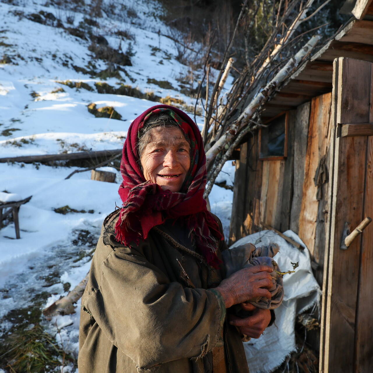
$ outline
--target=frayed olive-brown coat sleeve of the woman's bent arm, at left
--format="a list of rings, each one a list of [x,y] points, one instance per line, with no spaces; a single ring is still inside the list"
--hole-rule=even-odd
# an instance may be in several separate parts
[[[113,249],[101,236],[82,308],[139,370],[212,350],[222,307],[212,291],[170,282],[141,247]]]

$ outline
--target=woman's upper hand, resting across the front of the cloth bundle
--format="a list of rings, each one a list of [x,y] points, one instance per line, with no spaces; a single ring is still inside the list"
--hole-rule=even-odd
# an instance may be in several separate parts
[[[268,289],[273,286],[271,272],[273,268],[269,266],[244,268],[223,280],[215,289],[222,294],[226,308],[257,297],[270,299],[272,295]]]

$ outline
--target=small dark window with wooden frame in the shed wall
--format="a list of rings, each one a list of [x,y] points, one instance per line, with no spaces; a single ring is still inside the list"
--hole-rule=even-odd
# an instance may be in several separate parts
[[[261,127],[259,159],[285,159],[288,148],[288,112],[282,113]]]

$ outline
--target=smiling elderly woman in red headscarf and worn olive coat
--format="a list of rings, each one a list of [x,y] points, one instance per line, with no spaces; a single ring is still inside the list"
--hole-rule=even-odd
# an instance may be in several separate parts
[[[224,279],[198,127],[172,106],[151,107],[131,124],[120,169],[123,206],[104,220],[82,297],[79,373],[248,372],[241,334],[258,338],[271,313],[226,314],[270,298],[273,269]]]

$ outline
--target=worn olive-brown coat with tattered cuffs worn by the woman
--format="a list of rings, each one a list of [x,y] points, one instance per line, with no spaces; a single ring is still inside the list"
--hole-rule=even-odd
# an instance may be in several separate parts
[[[115,211],[104,221],[82,297],[79,373],[209,373],[211,350],[222,344],[226,372],[248,373],[224,301],[208,290],[223,273],[195,252],[180,225],[157,226],[125,247],[115,240],[117,219]]]

